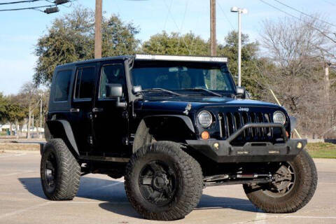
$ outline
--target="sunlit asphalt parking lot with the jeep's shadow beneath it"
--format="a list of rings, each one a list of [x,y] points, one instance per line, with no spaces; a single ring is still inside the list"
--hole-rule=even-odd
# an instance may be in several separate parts
[[[293,214],[264,214],[241,186],[206,188],[197,208],[169,223],[336,223],[336,160],[315,160],[318,188],[306,207]],[[45,199],[38,152],[0,153],[0,223],[164,223],[141,218],[125,195],[123,179],[89,174],[73,201]]]

